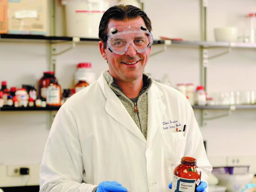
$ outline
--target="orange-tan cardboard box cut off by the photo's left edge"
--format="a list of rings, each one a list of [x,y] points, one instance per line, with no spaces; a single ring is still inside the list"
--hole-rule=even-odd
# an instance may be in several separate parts
[[[0,0],[0,33],[8,32],[7,7],[8,0]]]

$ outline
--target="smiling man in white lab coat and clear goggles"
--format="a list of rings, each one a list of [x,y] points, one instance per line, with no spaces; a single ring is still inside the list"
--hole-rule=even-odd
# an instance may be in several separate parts
[[[146,13],[132,5],[104,13],[99,47],[108,70],[59,109],[41,192],[170,192],[182,156],[197,159],[197,191],[205,190],[212,167],[192,107],[179,91],[143,74],[150,31]]]

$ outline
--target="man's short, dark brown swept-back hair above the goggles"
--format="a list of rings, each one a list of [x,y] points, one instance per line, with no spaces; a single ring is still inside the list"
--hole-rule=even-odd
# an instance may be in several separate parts
[[[128,19],[137,19],[138,17],[141,17],[144,20],[147,29],[151,32],[152,27],[149,17],[138,7],[123,4],[110,7],[101,17],[99,26],[99,38],[104,43],[104,48],[107,48],[106,42],[109,20],[113,19],[116,21],[123,21]]]

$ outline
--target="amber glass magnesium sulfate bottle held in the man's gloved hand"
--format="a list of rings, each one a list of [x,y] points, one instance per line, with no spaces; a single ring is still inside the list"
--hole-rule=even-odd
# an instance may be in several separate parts
[[[201,171],[193,157],[182,157],[173,171],[172,192],[196,192],[201,181]]]

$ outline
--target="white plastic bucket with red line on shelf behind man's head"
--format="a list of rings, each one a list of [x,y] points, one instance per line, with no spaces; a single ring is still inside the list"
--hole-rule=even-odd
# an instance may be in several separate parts
[[[98,38],[101,17],[112,0],[62,0],[66,13],[66,35]]]

